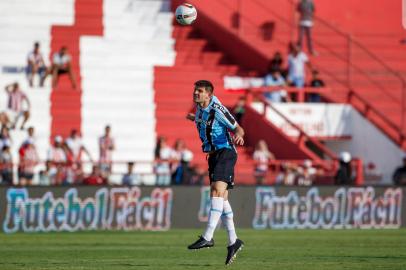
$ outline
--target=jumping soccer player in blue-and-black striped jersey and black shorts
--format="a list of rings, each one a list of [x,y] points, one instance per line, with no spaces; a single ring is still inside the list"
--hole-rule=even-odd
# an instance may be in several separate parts
[[[237,152],[234,144],[244,144],[244,130],[234,117],[213,95],[213,84],[210,81],[195,82],[193,101],[197,105],[196,114],[188,114],[187,119],[194,121],[203,152],[208,153],[211,207],[206,231],[189,249],[201,249],[214,246],[214,230],[222,218],[228,232],[226,265],[234,260],[243,242],[237,238],[233,211],[228,202],[228,190],[234,186],[234,166]],[[231,137],[229,131],[234,133]]]

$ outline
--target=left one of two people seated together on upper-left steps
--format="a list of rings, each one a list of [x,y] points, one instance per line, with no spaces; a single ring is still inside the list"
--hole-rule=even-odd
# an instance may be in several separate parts
[[[39,43],[34,43],[34,50],[30,52],[27,56],[27,77],[28,83],[31,87],[34,86],[34,75],[38,73],[40,82],[39,86],[44,86],[44,79],[46,74],[46,66],[42,53],[39,51]]]

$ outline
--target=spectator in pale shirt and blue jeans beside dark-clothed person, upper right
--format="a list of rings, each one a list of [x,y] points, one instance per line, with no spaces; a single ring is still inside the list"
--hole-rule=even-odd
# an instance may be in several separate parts
[[[305,65],[311,70],[311,63],[297,44],[290,43],[289,50],[288,81],[292,86],[302,88],[305,83]]]

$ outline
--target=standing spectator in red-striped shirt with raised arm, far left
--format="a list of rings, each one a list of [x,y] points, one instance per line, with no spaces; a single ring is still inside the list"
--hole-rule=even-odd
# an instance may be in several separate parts
[[[21,124],[21,129],[24,129],[24,125],[30,117],[30,101],[26,94],[21,91],[18,83],[7,85],[5,88],[8,95],[7,112],[8,118],[11,121],[11,128],[14,129],[17,125],[18,119],[23,116],[24,120]],[[24,101],[26,108],[23,108]]]

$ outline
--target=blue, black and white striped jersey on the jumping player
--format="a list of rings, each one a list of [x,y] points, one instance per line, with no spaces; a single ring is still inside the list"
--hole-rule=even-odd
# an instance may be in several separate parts
[[[206,108],[197,106],[195,123],[203,143],[203,152],[234,149],[229,130],[237,127],[237,121],[215,96]]]

